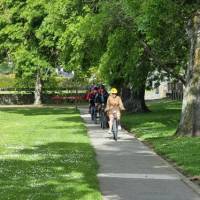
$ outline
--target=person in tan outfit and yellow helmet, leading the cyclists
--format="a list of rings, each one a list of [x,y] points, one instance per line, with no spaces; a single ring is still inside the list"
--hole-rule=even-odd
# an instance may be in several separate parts
[[[110,93],[111,94],[108,97],[107,105],[106,105],[106,109],[105,109],[105,111],[108,112],[108,117],[109,117],[108,133],[112,133],[112,125],[113,125],[113,119],[114,119],[113,112],[116,112],[117,120],[120,120],[121,111],[125,110],[121,97],[117,95],[117,93],[118,93],[117,89],[112,88]],[[118,129],[121,130],[120,125],[119,125]]]

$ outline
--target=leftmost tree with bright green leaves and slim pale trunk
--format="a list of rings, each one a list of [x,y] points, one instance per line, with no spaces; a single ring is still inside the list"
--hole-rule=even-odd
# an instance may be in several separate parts
[[[49,4],[46,0],[1,1],[0,50],[12,56],[18,79],[35,82],[35,104],[41,103],[44,77],[54,55],[53,41],[40,30]]]

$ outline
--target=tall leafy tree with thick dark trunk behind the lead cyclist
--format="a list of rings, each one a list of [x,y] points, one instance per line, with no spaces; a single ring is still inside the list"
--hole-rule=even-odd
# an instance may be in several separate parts
[[[146,59],[147,55],[143,56],[144,48],[138,43],[133,17],[126,14],[122,4],[121,0],[99,1],[95,12],[91,5],[83,5],[82,12],[67,20],[66,31],[60,39],[62,60],[69,68],[79,70],[99,66],[105,82],[124,90],[128,110],[146,111],[147,75],[142,71],[148,74],[148,67],[144,67],[147,65],[142,57]]]

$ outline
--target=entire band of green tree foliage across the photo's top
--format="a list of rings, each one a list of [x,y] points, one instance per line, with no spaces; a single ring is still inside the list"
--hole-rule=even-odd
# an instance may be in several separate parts
[[[185,27],[196,3],[2,0],[0,55],[12,55],[20,79],[34,80],[39,71],[48,81],[62,65],[74,70],[79,82],[93,75],[90,68],[105,82],[130,88],[145,85],[147,77],[183,80],[189,52]]]

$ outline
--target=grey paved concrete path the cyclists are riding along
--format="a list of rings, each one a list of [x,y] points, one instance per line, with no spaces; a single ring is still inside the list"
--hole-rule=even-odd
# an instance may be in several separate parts
[[[124,130],[115,142],[87,111],[80,108],[97,153],[104,200],[200,200],[197,187],[147,146]]]

